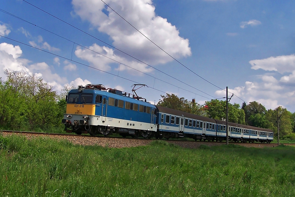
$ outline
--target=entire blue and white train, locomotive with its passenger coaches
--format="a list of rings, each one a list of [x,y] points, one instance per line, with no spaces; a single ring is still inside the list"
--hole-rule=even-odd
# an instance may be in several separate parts
[[[134,84],[136,85],[143,84]],[[141,87],[142,87],[141,86]],[[62,119],[67,133],[89,133],[104,136],[118,133],[135,138],[191,138],[200,141],[271,143],[273,131],[266,128],[228,123],[226,121],[190,114],[153,105],[135,90],[133,94],[87,84],[72,89],[66,96],[66,113]]]

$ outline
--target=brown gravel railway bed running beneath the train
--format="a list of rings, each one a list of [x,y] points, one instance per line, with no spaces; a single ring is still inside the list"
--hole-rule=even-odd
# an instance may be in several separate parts
[[[1,130],[0,134],[3,136],[11,135],[11,134],[19,134],[24,135],[28,139],[36,136],[50,137],[60,140],[68,140],[73,144],[79,144],[83,146],[108,146],[111,148],[122,148],[122,147],[135,147],[135,146],[145,146],[150,144],[151,141],[156,139],[135,139],[135,138],[123,138],[123,137],[114,137],[114,136],[90,136],[90,135],[76,135],[76,134],[63,134],[63,133],[42,133],[42,132],[29,132],[29,131],[7,131]],[[198,148],[201,144],[208,146],[218,146],[221,144],[226,144],[225,142],[200,142],[200,141],[184,141],[184,140],[165,140],[169,143],[177,144],[178,146],[184,148]],[[245,147],[276,147],[277,144],[263,144],[263,143],[234,143],[240,146]],[[285,145],[295,145],[295,144],[285,144]]]

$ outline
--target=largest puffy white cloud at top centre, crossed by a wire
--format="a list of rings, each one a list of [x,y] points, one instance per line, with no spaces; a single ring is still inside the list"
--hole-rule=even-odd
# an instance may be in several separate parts
[[[179,31],[167,22],[167,19],[155,15],[155,7],[151,0],[106,0],[105,3],[171,56],[182,58],[191,55],[189,40],[181,38]],[[106,7],[103,2],[73,0],[72,4],[75,12],[82,19],[88,20],[100,32],[109,35],[113,45],[123,49],[124,52],[148,64],[164,64],[173,60]],[[112,53],[114,56],[123,55],[117,51]],[[104,63],[104,69],[109,69],[106,66],[109,64],[108,61]],[[142,66],[146,67],[146,65]]]

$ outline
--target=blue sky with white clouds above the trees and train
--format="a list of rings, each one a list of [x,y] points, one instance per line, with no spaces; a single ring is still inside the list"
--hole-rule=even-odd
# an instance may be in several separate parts
[[[3,0],[0,77],[295,111],[293,0]],[[225,99],[221,99],[225,100]]]

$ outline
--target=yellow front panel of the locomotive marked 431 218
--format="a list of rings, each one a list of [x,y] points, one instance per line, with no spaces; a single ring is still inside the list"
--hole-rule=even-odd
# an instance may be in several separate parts
[[[67,104],[67,114],[95,115],[93,104]]]

